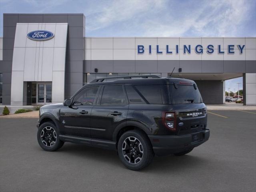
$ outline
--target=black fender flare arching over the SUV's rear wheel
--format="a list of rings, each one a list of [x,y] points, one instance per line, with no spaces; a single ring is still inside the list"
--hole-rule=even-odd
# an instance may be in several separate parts
[[[117,142],[117,136],[118,136],[118,133],[120,132],[120,130],[122,130],[122,128],[127,127],[127,126],[137,127],[139,129],[143,130],[148,135],[152,134],[152,132],[150,132],[150,130],[142,122],[138,122],[138,120],[137,121],[128,120],[126,122],[120,123],[114,130],[114,133],[113,133],[113,141],[114,142]]]

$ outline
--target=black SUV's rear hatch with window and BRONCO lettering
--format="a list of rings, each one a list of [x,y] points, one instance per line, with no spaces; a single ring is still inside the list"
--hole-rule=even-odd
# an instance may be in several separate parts
[[[180,80],[169,85],[176,134],[192,134],[206,128],[207,110],[194,81]]]

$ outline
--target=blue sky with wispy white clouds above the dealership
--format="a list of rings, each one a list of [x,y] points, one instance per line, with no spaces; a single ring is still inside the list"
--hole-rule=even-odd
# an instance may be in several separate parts
[[[87,37],[255,37],[255,10],[256,0],[0,0],[0,36],[3,13],[83,13]]]

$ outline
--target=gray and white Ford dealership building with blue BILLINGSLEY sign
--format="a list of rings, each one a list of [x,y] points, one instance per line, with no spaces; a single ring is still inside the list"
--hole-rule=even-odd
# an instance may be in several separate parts
[[[242,76],[244,104],[256,105],[255,37],[95,38],[85,24],[84,14],[4,14],[0,105],[60,103],[95,78],[173,69],[208,104],[225,103],[225,80]]]

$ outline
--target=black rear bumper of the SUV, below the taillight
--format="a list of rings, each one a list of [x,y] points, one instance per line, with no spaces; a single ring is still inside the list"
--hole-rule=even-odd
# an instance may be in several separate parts
[[[198,140],[195,137],[198,136]],[[148,135],[156,156],[179,153],[197,147],[210,137],[210,130],[186,135]],[[193,141],[194,140],[194,141]]]

